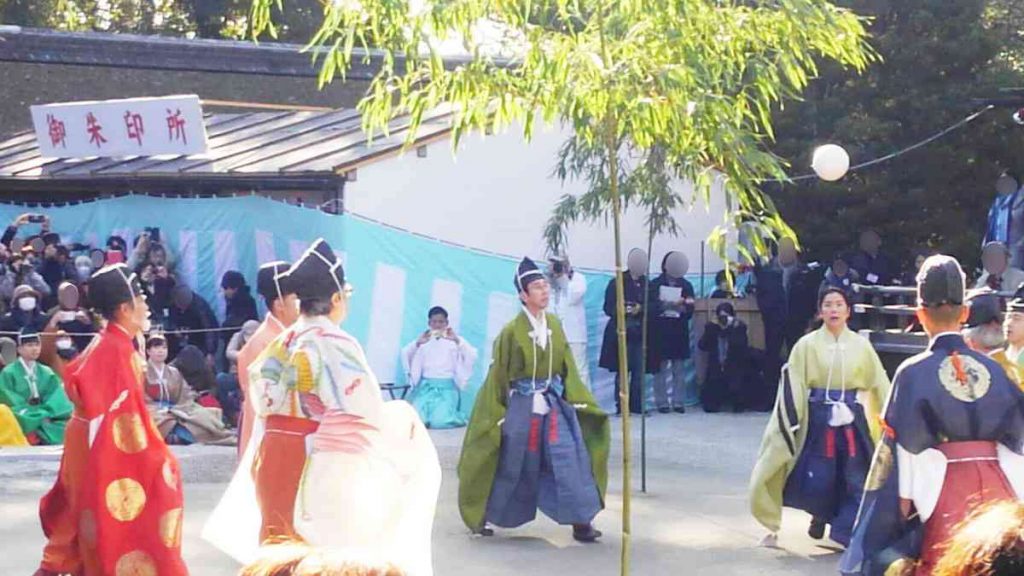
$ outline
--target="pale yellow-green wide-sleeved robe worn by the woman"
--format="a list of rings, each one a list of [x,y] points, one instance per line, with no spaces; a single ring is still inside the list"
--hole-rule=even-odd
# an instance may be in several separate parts
[[[881,407],[889,394],[889,376],[878,354],[867,338],[850,330],[838,339],[824,327],[805,335],[793,346],[786,366],[750,486],[751,512],[772,532],[781,526],[783,489],[808,440],[811,390],[855,393],[872,443],[881,436]]]

